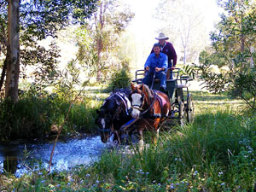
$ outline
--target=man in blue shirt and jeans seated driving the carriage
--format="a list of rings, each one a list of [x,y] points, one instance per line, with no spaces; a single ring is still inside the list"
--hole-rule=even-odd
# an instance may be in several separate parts
[[[145,76],[143,84],[152,84],[153,79],[160,79],[160,90],[166,91],[166,69],[168,67],[167,55],[160,52],[160,44],[154,44],[154,53],[148,55],[145,62]]]

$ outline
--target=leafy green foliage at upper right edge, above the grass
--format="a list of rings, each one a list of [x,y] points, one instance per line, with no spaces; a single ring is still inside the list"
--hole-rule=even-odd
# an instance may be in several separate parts
[[[207,84],[207,90],[239,90],[241,98],[248,102],[244,95],[253,92],[246,90],[245,86],[254,84],[249,72],[255,69],[256,61],[253,50],[256,44],[256,4],[241,0],[218,3],[226,12],[221,15],[218,31],[211,33],[212,47],[201,52],[201,65],[196,67],[200,79]]]

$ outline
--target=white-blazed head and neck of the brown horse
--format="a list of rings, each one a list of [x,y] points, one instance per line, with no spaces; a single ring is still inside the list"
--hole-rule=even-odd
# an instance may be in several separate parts
[[[150,97],[151,97],[150,89],[148,85],[141,84],[135,86],[131,84],[131,94],[129,96],[131,100],[131,117],[137,118],[140,116],[142,111],[145,108],[148,108],[150,105]]]

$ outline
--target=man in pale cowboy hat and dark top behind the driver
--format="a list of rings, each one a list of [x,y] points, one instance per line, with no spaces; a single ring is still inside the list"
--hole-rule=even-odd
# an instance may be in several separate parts
[[[166,54],[168,57],[168,68],[171,68],[171,70],[173,70],[177,63],[177,55],[172,44],[166,41],[169,38],[167,38],[164,33],[160,32],[158,38],[155,39],[159,41],[161,52]],[[154,53],[154,49],[151,50],[151,53]]]

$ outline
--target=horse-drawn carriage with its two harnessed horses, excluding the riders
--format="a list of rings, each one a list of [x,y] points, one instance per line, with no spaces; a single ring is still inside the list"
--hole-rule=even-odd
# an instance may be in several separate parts
[[[169,71],[170,72],[170,71]],[[160,80],[154,79],[151,89],[142,84],[144,70],[137,70],[131,90],[116,90],[97,110],[102,142],[113,135],[113,141],[122,142],[122,137],[137,131],[139,145],[143,148],[143,130],[155,131],[167,119],[177,119],[180,125],[192,123],[195,117],[193,97],[189,93],[188,76],[180,76],[180,69],[172,71],[172,79],[166,79],[166,91],[160,91]],[[154,137],[154,142],[156,137]]]

